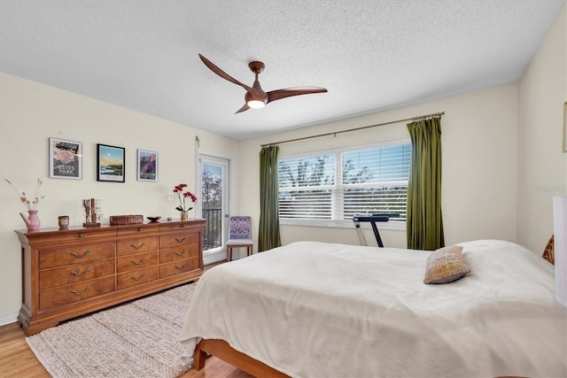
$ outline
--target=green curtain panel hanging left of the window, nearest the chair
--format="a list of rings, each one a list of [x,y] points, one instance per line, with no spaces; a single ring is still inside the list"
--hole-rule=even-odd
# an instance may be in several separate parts
[[[260,228],[258,251],[282,245],[278,211],[278,146],[262,147],[260,150]]]

